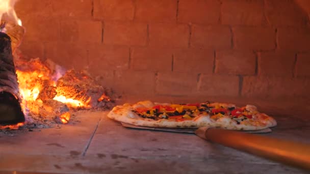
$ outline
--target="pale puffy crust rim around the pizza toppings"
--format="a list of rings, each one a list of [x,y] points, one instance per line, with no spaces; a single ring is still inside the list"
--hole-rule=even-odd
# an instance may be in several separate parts
[[[109,113],[110,119],[132,124],[136,126],[146,127],[165,127],[165,128],[199,128],[199,127],[220,127],[223,129],[230,130],[261,130],[269,127],[276,126],[276,121],[264,113],[253,114],[253,119],[247,119],[240,124],[228,116],[224,116],[218,120],[210,118],[209,114],[200,114],[193,120],[186,120],[182,122],[176,122],[171,119],[152,120],[147,118],[141,118],[139,115],[132,110],[138,107],[153,107],[155,105],[169,105],[168,103],[153,103],[151,101],[141,101],[136,104],[125,103],[121,106],[115,106]],[[221,103],[223,106],[236,107],[234,104]],[[257,111],[257,108],[253,105],[247,105],[247,110]]]

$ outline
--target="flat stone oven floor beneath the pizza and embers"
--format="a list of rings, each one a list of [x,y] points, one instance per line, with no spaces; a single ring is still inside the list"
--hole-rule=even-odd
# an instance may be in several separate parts
[[[180,134],[123,128],[107,112],[81,111],[68,125],[0,135],[0,173],[306,173]],[[310,142],[306,119],[276,117],[266,136]]]

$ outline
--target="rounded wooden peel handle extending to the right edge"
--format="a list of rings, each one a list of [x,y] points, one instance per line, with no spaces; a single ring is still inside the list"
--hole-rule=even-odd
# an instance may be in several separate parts
[[[310,144],[210,128],[205,138],[230,148],[310,170]]]

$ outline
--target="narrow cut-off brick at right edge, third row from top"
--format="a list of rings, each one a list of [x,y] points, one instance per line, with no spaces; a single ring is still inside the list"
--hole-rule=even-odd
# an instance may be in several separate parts
[[[297,54],[296,76],[310,77],[309,67],[310,67],[310,53]]]

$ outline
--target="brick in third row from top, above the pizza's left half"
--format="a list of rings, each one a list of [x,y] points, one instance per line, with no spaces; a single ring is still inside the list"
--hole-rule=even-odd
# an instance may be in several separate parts
[[[172,50],[164,48],[133,48],[131,68],[144,71],[172,71]]]

